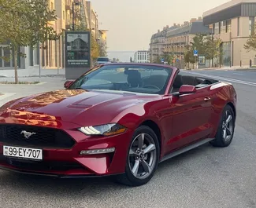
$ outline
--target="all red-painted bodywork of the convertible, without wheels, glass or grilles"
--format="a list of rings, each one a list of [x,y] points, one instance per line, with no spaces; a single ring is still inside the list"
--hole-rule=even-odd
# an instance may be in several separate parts
[[[161,65],[163,66],[172,68]],[[143,122],[150,121],[158,126],[162,158],[197,140],[214,137],[221,111],[226,104],[231,104],[236,111],[236,91],[228,83],[217,82],[196,90],[192,90],[191,86],[184,86],[181,93],[186,90],[193,93],[180,97],[169,94],[173,78],[179,71],[177,68],[172,69],[173,73],[163,95],[60,89],[10,101],[0,108],[0,123],[57,128],[65,130],[76,140],[76,144],[71,149],[44,148],[44,160],[77,162],[82,168],[43,173],[71,177],[124,173],[132,134]],[[210,100],[205,100],[206,97]],[[81,126],[98,126],[112,122],[117,122],[128,130],[113,137],[89,137],[77,130]],[[2,145],[0,143],[0,155],[2,155]],[[111,154],[79,154],[82,150],[111,147],[116,148]],[[0,167],[32,173],[7,163],[0,162]],[[41,172],[33,171],[33,173]]]

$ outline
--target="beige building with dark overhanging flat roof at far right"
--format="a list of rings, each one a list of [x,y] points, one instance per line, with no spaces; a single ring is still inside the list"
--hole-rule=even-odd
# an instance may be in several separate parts
[[[214,65],[226,67],[250,66],[255,52],[244,49],[254,31],[256,0],[232,0],[203,13],[203,23],[213,28],[213,34],[221,38],[221,59]]]

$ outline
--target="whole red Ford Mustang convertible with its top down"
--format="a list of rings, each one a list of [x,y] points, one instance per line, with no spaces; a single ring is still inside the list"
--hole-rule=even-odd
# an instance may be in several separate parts
[[[3,105],[0,168],[139,186],[159,162],[207,142],[227,147],[235,123],[230,83],[164,64],[105,64]]]

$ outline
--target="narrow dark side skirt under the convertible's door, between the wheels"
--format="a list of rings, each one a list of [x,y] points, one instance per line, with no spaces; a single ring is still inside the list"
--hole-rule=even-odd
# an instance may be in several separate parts
[[[190,144],[184,148],[180,148],[176,151],[171,152],[168,155],[165,155],[164,157],[162,157],[162,159],[160,160],[160,162],[164,162],[165,160],[171,159],[173,157],[176,157],[177,155],[180,155],[186,151],[190,151],[194,148],[198,148],[199,146],[201,146],[202,144],[206,144],[208,142],[210,142],[211,140],[214,140],[215,138],[206,138],[204,140],[199,140],[198,142],[195,142],[193,144]]]

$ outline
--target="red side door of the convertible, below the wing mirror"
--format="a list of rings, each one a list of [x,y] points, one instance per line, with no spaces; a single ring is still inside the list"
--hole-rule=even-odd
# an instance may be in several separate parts
[[[169,96],[169,116],[172,126],[167,151],[173,151],[187,144],[209,137],[213,130],[213,115],[210,86],[197,89],[196,93],[184,94],[180,97]]]

